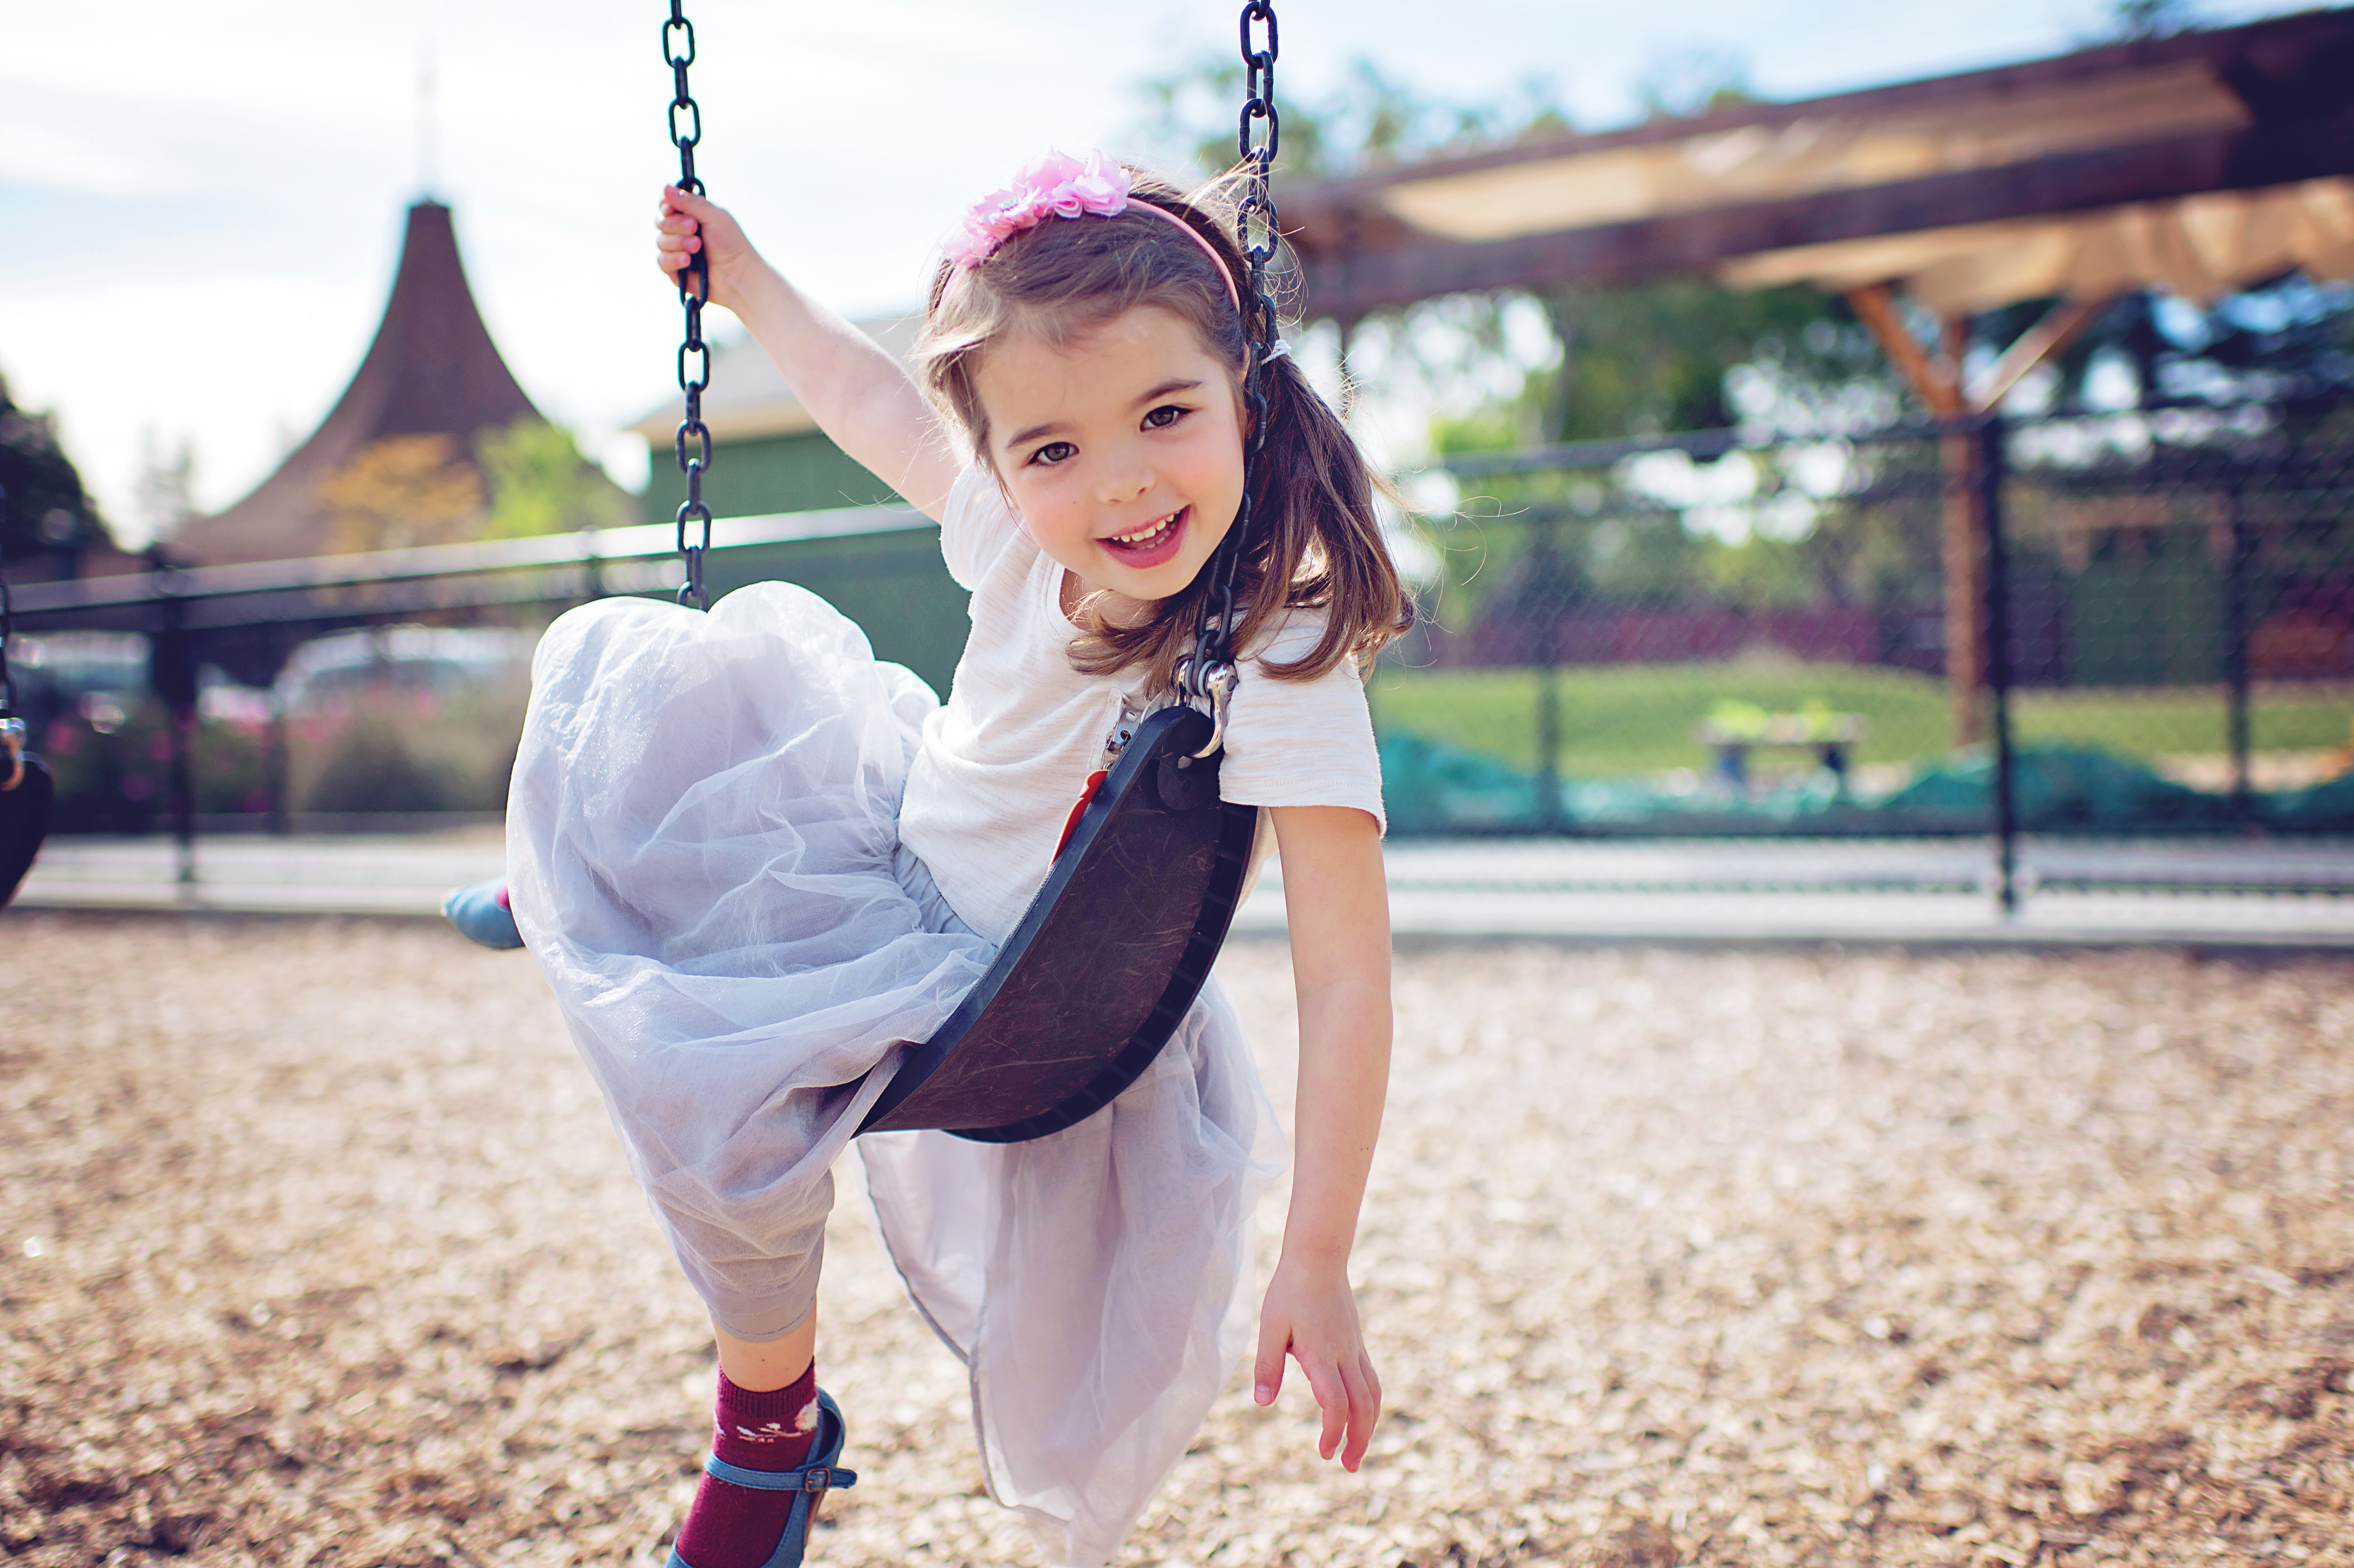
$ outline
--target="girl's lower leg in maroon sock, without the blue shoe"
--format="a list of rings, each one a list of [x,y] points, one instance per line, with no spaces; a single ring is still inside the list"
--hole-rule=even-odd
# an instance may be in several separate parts
[[[817,1439],[817,1309],[779,1340],[737,1340],[711,1326],[720,1347],[720,1396],[711,1453],[744,1469],[796,1469]],[[706,1474],[678,1528],[678,1556],[692,1568],[760,1568],[793,1511],[793,1493],[765,1493]]]

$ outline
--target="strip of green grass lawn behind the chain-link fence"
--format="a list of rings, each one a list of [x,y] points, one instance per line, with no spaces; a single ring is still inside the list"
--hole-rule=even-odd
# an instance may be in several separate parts
[[[1827,702],[1862,713],[1871,737],[1857,763],[1919,763],[1951,746],[1944,683],[1855,664],[1610,664],[1561,671],[1561,772],[1620,777],[1704,768],[1693,739],[1718,702],[1754,702],[1787,713]],[[1481,751],[1514,768],[1537,765],[1537,673],[1528,669],[1379,669],[1372,718]],[[2133,687],[2022,692],[2013,699],[2022,742],[2072,742],[2121,756],[2225,751],[2222,687]],[[2354,690],[2257,687],[2250,735],[2257,751],[2347,744]],[[1770,758],[1773,753],[1768,753]]]

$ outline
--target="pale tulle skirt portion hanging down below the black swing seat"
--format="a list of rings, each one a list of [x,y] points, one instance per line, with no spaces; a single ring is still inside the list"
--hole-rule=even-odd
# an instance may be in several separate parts
[[[1109,1109],[1029,1144],[859,1140],[909,1295],[972,1368],[991,1495],[1048,1563],[1111,1561],[1250,1347],[1274,1109],[1212,979]]]

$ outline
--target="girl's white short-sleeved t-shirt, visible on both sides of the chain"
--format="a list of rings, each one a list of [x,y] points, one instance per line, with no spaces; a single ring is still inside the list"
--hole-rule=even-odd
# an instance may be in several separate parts
[[[939,527],[949,574],[972,591],[972,636],[946,706],[923,725],[899,841],[972,930],[1003,942],[1055,859],[1062,824],[1099,765],[1137,671],[1071,669],[1062,565],[1038,549],[984,466],[949,492]],[[1356,664],[1276,680],[1316,645],[1323,617],[1297,610],[1243,662],[1226,711],[1219,793],[1243,805],[1354,805],[1382,815],[1382,760]],[[1266,838],[1266,819],[1259,819]]]

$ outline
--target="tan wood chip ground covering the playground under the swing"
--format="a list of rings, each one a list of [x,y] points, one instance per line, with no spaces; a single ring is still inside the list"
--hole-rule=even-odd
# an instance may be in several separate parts
[[[0,965],[0,1556],[661,1561],[711,1349],[527,958],[12,913]],[[1222,972],[1288,1102],[1283,949]],[[1375,1450],[1229,1387],[1123,1563],[2354,1563],[2354,968],[1455,946],[1396,996]],[[843,1187],[810,1561],[1033,1563]]]

